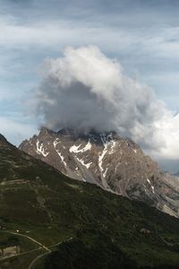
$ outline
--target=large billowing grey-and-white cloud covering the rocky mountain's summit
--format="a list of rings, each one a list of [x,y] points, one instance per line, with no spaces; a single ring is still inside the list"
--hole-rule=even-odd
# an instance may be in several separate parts
[[[115,130],[153,156],[178,158],[179,116],[147,85],[126,76],[115,59],[95,46],[66,48],[63,57],[48,58],[42,67],[34,103],[43,125]]]

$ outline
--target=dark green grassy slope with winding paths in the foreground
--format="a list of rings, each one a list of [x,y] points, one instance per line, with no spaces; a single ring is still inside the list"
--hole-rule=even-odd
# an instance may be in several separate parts
[[[178,219],[67,178],[3,136],[0,199],[2,269],[179,268]]]

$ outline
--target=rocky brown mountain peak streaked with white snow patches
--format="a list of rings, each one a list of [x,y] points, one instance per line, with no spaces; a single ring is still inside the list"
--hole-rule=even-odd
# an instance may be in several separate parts
[[[139,145],[115,132],[76,134],[62,129],[55,133],[42,128],[19,148],[70,178],[179,216],[179,178],[160,171]]]

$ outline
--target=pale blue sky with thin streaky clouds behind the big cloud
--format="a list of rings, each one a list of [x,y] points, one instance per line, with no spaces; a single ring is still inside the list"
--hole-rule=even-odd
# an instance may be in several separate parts
[[[44,80],[44,60],[62,58],[66,47],[94,46],[115,58],[124,76],[147,85],[177,115],[178,8],[176,0],[0,0],[0,133],[18,145],[38,132],[32,95]],[[157,146],[148,151],[141,141],[162,169],[173,172],[179,163],[176,119],[166,152]],[[166,133],[171,140],[170,129]]]

